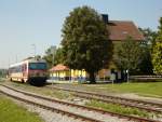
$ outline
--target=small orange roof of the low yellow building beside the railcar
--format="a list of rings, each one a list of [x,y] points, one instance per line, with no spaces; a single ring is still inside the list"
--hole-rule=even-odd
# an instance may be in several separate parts
[[[69,68],[63,64],[58,64],[50,69],[50,71],[65,71],[65,70],[69,70]]]

